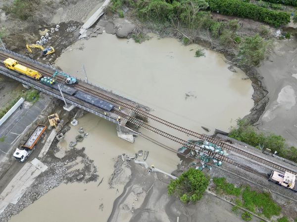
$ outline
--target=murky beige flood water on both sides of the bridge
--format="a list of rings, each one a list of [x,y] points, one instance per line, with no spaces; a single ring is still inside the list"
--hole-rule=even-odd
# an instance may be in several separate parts
[[[200,126],[228,130],[238,117],[253,106],[253,89],[245,74],[228,70],[224,57],[205,50],[205,57],[194,57],[198,45],[183,46],[176,39],[156,37],[142,44],[103,34],[72,45],[57,60],[64,72],[84,78],[85,65],[89,82],[126,96],[154,109],[153,114],[173,123],[204,133]],[[186,99],[186,93],[191,95]],[[114,199],[123,185],[110,189],[108,179],[113,158],[122,153],[134,155],[149,150],[147,162],[167,172],[176,169],[176,154],[138,137],[130,144],[116,135],[115,126],[93,114],[79,119],[60,143],[61,155],[74,140],[78,128],[89,133],[77,148],[85,147],[98,167],[99,181],[60,185],[12,217],[12,222],[107,221]],[[149,132],[143,131],[153,137]],[[183,139],[188,138],[182,135]],[[154,137],[166,142],[160,137]],[[169,143],[172,148],[178,144]],[[103,182],[98,186],[101,179]],[[103,210],[99,209],[103,203]]]

